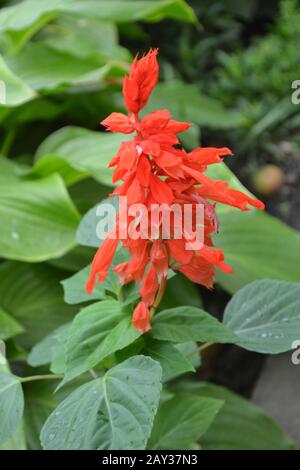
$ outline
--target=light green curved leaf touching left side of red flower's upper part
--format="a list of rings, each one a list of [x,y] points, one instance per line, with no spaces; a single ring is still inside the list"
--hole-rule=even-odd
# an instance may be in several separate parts
[[[121,134],[90,131],[81,127],[63,127],[47,137],[39,146],[36,160],[55,155],[74,170],[89,174],[100,183],[112,185],[112,171],[107,164],[126,140]]]

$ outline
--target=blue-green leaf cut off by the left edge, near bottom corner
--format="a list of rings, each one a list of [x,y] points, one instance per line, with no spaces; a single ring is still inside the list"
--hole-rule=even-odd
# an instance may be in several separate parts
[[[18,377],[0,372],[0,444],[17,430],[23,415],[24,398]]]

